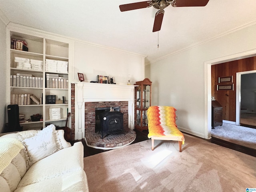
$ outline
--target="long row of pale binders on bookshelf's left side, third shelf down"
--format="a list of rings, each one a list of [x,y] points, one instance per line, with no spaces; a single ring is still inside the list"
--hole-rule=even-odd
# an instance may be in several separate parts
[[[31,74],[17,73],[10,75],[10,86],[13,87],[43,87],[43,78],[34,77]]]

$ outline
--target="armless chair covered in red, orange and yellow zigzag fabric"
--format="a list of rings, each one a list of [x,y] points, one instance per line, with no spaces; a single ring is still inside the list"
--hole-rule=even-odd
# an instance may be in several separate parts
[[[171,106],[150,106],[147,111],[148,116],[148,138],[152,141],[154,150],[154,140],[175,140],[179,142],[180,152],[185,138],[176,125],[176,109]]]

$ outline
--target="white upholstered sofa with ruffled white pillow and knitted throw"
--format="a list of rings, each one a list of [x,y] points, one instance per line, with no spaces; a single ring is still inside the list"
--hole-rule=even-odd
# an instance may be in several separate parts
[[[88,192],[82,142],[64,140],[64,131],[43,130],[0,137],[0,192]]]

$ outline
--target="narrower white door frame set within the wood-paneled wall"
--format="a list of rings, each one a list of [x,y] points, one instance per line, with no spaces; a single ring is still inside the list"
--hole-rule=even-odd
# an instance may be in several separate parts
[[[241,112],[241,75],[256,73],[256,70],[243,71],[236,73],[236,125],[240,125],[240,112]]]

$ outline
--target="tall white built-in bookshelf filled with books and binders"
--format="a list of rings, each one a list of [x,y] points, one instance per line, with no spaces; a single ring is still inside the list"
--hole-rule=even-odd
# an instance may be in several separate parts
[[[8,28],[6,37],[8,104],[18,104],[25,120],[34,114],[42,115],[40,121],[21,122],[23,130],[41,129],[50,123],[65,126],[71,88],[69,43],[19,28]],[[54,102],[49,103],[52,96]],[[60,109],[60,116],[54,120],[50,119],[52,108]]]

